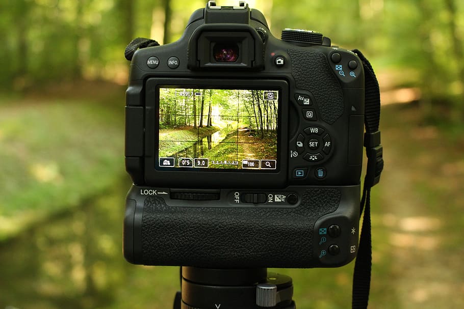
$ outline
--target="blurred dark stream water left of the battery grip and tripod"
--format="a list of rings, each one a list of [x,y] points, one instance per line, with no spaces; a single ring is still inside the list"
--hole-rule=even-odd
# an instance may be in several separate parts
[[[0,308],[171,307],[178,269],[134,266],[122,257],[128,188],[122,182],[0,244]]]

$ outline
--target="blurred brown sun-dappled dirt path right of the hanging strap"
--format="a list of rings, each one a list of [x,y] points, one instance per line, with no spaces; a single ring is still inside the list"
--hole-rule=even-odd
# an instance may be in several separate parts
[[[393,295],[372,307],[464,308],[463,139],[421,127],[405,106],[383,108],[381,124],[385,170],[373,224],[386,237],[373,236],[373,260],[391,268],[374,271],[373,286]]]

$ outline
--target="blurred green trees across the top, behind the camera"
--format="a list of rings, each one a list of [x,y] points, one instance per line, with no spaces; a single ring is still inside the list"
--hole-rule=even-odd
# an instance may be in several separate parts
[[[0,4],[0,82],[27,89],[76,78],[124,82],[125,45],[134,37],[179,38],[205,1],[4,0]],[[227,1],[219,1],[227,3]],[[229,2],[230,3],[230,2]],[[274,35],[313,29],[346,48],[362,49],[377,72],[400,71],[388,87],[418,87],[460,119],[464,98],[464,3],[458,0],[250,0]],[[167,16],[165,18],[165,16]],[[399,75],[399,76],[398,76]],[[431,107],[430,107],[431,108]]]

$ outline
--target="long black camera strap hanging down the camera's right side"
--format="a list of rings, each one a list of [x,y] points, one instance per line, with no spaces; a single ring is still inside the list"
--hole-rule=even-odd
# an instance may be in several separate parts
[[[367,171],[364,179],[363,197],[359,216],[364,210],[363,227],[359,237],[359,248],[354,264],[352,309],[366,309],[369,302],[372,270],[371,242],[371,188],[380,180],[383,170],[383,149],[380,145],[380,89],[369,61],[357,49],[352,50],[363,62],[365,75],[364,147],[367,155]]]

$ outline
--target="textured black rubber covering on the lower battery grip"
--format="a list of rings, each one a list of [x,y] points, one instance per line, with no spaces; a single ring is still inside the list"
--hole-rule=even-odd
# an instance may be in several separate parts
[[[162,198],[146,198],[141,263],[308,267],[314,263],[314,224],[338,208],[341,196],[334,188],[308,189],[296,208],[170,207]]]

